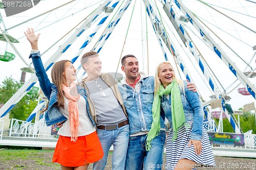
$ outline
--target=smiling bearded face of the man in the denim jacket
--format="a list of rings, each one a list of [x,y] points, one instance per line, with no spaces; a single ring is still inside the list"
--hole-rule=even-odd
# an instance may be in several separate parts
[[[134,57],[128,57],[125,59],[122,71],[125,73],[126,80],[136,80],[139,75],[139,62]]]

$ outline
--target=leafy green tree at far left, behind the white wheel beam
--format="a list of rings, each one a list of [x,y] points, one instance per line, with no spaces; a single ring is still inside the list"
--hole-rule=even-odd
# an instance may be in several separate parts
[[[0,104],[5,104],[11,96],[22,87],[23,83],[14,80],[12,77],[5,78],[0,85]],[[26,120],[37,105],[38,94],[26,94],[13,109],[9,112],[10,118]]]

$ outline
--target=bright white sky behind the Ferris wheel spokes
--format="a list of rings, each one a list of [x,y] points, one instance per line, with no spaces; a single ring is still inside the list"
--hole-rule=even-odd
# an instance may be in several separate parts
[[[28,58],[31,47],[24,36],[24,31],[27,28],[33,27],[36,34],[41,34],[38,45],[41,54],[44,53],[42,55],[42,61],[44,63],[50,57],[52,57],[52,55],[57,51],[58,47],[63,44],[72,35],[72,33],[75,32],[75,30],[80,26],[79,22],[86,18],[94,9],[96,9],[96,7],[99,6],[99,4],[103,3],[103,1],[74,1],[73,3],[63,6],[58,10],[52,11],[51,13],[38,16],[68,2],[70,1],[40,1],[38,5],[27,11],[8,17],[5,14],[5,10],[0,9],[3,17],[3,22],[0,23],[1,29],[7,29],[6,34],[16,38],[19,41],[19,43],[13,43],[16,48],[16,52],[13,50],[10,44],[7,45],[6,42],[0,42],[0,53],[7,49],[7,51],[13,51],[16,54],[15,59],[10,62],[0,61],[0,85],[6,77],[12,76],[12,78],[15,80],[20,80],[22,73],[20,68],[28,67],[28,65],[31,64],[31,60]],[[126,54],[135,55],[140,63],[140,71],[147,72],[147,74],[151,76],[154,76],[156,65],[159,62],[164,61],[163,53],[152,28],[151,21],[148,17],[146,17],[144,10],[145,8],[141,2],[142,1],[132,1],[129,8],[120,19],[115,30],[111,34],[109,40],[106,41],[102,50],[100,51],[99,55],[102,60],[102,72],[117,71],[124,76],[120,69],[121,65],[119,64],[119,60],[120,57]],[[203,78],[202,71],[198,66],[197,61],[193,55],[191,55],[188,48],[185,47],[184,43],[180,40],[175,28],[168,20],[165,12],[162,9],[163,5],[159,1],[151,2],[157,4],[157,6],[154,6],[154,8],[159,10],[158,12],[163,21],[163,27],[168,33],[170,42],[175,46],[176,53],[181,56],[182,61],[184,62],[184,65],[192,78],[191,81],[196,84],[202,98],[205,101],[209,101],[209,96],[213,95],[213,93],[210,90],[207,80]],[[227,56],[239,67],[241,71],[244,72],[250,70],[245,62],[249,63],[251,69],[255,69],[256,63],[255,56],[253,57],[253,55],[255,54],[256,50],[253,50],[252,47],[256,45],[256,34],[249,31],[244,26],[250,28],[254,32],[256,31],[256,15],[254,12],[256,4],[248,1],[238,0],[228,0],[224,2],[212,2],[207,0],[204,2],[208,3],[211,8],[205,6],[199,1],[183,1],[190,11],[195,13],[207,26],[204,26],[207,32],[209,32],[212,38],[214,38],[214,40],[223,48]],[[90,51],[94,47],[120,5],[121,2],[104,22],[102,28],[97,31],[97,34],[95,34],[88,46],[81,52],[81,55]],[[212,8],[215,8],[219,12]],[[226,16],[222,15],[220,12],[224,13]],[[177,10],[176,15],[178,16],[182,14],[179,12],[179,10]],[[34,16],[38,17],[31,19]],[[96,24],[98,22],[99,20],[96,21]],[[231,100],[228,101],[228,103],[231,104],[233,110],[238,110],[239,108],[243,107],[243,105],[248,103],[255,103],[255,99],[251,95],[244,96],[238,93],[237,89],[239,87],[243,87],[243,85],[239,84],[239,81],[236,81],[236,77],[232,74],[224,62],[216,54],[209,50],[209,47],[204,41],[201,40],[199,33],[194,29],[194,27],[191,26],[189,22],[184,22],[183,24],[184,28],[189,33],[189,36],[193,38],[193,42],[198,47],[203,59],[205,60],[205,65],[209,66],[208,71],[212,73],[211,79],[214,80],[216,87],[218,86],[220,92],[224,93],[225,91],[227,95],[230,96]],[[63,55],[61,55],[58,60],[72,59],[79,51],[79,48],[83,42],[93,32],[95,26],[96,25],[94,24],[92,27],[84,31],[84,33],[82,33],[76,39],[76,41],[72,43],[70,48]],[[70,30],[72,31],[69,32]],[[67,36],[65,36],[66,34]],[[219,38],[217,38],[217,36]],[[223,40],[226,45],[221,40]],[[227,45],[234,52],[236,52],[237,55],[229,50]],[[50,50],[48,50],[48,48],[50,48]],[[175,67],[176,74],[178,75],[180,73],[181,78],[185,80],[180,68],[176,67],[172,54],[168,52],[166,46],[163,48],[167,53],[169,61]],[[17,53],[19,53],[22,58],[19,57]],[[79,66],[79,60],[80,58],[78,58],[74,63],[76,68]],[[50,71],[51,69],[47,71],[48,75],[50,75]],[[26,81],[29,80],[31,76],[32,74],[27,73]],[[256,78],[250,78],[249,81],[252,84],[255,84],[255,79]],[[36,84],[35,86],[39,85]]]

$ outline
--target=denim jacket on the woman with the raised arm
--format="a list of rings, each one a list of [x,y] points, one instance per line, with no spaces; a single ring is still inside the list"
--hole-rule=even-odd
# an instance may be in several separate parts
[[[51,126],[62,121],[65,122],[67,118],[63,116],[63,114],[59,111],[58,107],[54,106],[54,104],[58,101],[57,87],[55,84],[51,83],[50,80],[48,79],[44,65],[42,64],[42,61],[41,61],[40,52],[30,54],[29,58],[32,58],[34,68],[35,68],[35,74],[38,78],[40,87],[49,100],[48,109],[45,112],[46,125]],[[77,86],[77,91],[86,100],[87,113],[95,127],[96,125],[89,111],[89,104],[87,100],[86,90],[84,90],[84,88],[80,86]]]

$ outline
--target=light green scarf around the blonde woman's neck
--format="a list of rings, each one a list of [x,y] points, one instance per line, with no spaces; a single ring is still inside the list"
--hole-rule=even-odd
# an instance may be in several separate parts
[[[185,115],[183,110],[183,105],[181,102],[180,89],[175,80],[170,83],[166,88],[161,85],[160,89],[155,94],[152,114],[153,114],[153,122],[151,126],[150,132],[147,134],[146,138],[146,151],[150,151],[152,140],[160,134],[160,106],[161,106],[161,98],[163,95],[170,94],[171,97],[171,109],[172,109],[172,123],[173,123],[173,131],[174,136],[172,140],[177,139],[177,131],[178,129],[185,123]]]

